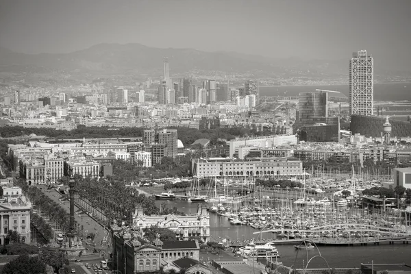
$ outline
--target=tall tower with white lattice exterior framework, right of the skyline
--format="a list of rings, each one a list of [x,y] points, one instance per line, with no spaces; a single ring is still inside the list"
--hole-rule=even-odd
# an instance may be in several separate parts
[[[374,60],[365,50],[354,52],[349,62],[349,113],[374,112]]]

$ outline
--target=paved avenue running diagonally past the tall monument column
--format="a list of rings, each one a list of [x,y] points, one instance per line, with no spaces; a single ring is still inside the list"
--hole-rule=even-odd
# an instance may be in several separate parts
[[[69,199],[61,199],[63,196],[55,189],[47,190],[46,186],[40,186],[40,189],[42,192],[45,193],[48,197],[50,197],[53,201],[56,203],[59,203],[60,206],[67,212],[70,212],[70,201]],[[77,206],[75,206],[75,212],[83,212],[81,209],[79,209]],[[84,246],[88,249],[89,252],[92,252],[93,249],[97,249],[101,251],[101,255],[105,256],[105,259],[108,259],[108,256],[111,252],[111,249],[108,249],[108,246],[106,243],[101,244],[102,240],[104,237],[108,239],[110,242],[110,235],[108,232],[104,229],[102,225],[97,223],[95,219],[92,219],[90,216],[87,214],[76,214],[74,215],[75,221],[82,225],[82,234],[80,234],[80,237],[86,238],[88,233],[94,233],[95,234],[95,246],[88,245],[86,242],[83,242]],[[91,242],[89,242],[91,244]]]

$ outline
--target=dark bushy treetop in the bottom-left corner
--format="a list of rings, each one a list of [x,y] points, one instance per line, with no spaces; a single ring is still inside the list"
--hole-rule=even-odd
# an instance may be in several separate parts
[[[3,268],[3,274],[43,274],[45,272],[46,264],[41,262],[38,257],[29,257],[28,255],[18,256],[15,260],[5,264]]]

